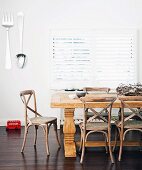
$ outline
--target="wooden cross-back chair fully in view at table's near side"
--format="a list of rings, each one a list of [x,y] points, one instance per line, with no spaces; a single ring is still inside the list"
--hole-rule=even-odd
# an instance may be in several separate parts
[[[80,150],[82,150],[80,163],[83,163],[85,143],[87,142],[87,138],[91,133],[95,133],[95,132],[100,132],[105,136],[106,144],[109,147],[111,162],[114,163],[112,150],[111,150],[111,110],[112,110],[112,104],[116,100],[116,98],[115,97],[93,97],[93,98],[82,97],[80,98],[80,100],[83,102],[83,106],[84,106],[83,122],[79,124],[79,127],[81,129]],[[97,102],[105,103],[105,107],[102,108],[99,112],[96,111],[95,108],[95,104]],[[89,119],[87,119],[87,112],[86,112],[87,109],[90,109],[94,114]],[[104,110],[107,110],[108,119],[106,119],[102,115]],[[93,119],[98,119],[99,121],[94,122]]]

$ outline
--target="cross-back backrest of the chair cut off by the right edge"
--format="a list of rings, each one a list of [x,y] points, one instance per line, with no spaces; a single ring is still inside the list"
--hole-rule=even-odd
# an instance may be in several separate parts
[[[119,97],[121,101],[121,122],[120,124],[123,126],[124,122],[138,117],[142,120],[142,96],[121,96]],[[125,109],[129,109],[129,115],[125,116]]]

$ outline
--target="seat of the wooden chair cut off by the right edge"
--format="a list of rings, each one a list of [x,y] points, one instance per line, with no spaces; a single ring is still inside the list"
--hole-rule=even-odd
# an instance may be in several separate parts
[[[120,121],[116,121],[115,122],[116,126],[120,126]],[[128,120],[126,122],[124,122],[124,128],[128,128],[128,129],[138,129],[138,128],[142,128],[142,121],[139,120]]]

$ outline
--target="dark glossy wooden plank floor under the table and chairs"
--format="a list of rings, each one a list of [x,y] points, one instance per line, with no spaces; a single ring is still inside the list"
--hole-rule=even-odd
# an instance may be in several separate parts
[[[129,148],[123,151],[122,161],[118,162],[118,151],[114,153],[115,164],[111,165],[110,158],[104,148],[89,148],[86,150],[84,164],[77,158],[65,158],[63,149],[63,133],[59,131],[62,148],[58,150],[54,131],[50,131],[50,156],[46,156],[45,140],[39,129],[37,147],[33,147],[33,129],[29,130],[24,154],[20,153],[24,128],[21,131],[6,131],[0,127],[0,170],[141,170],[142,152],[140,148]],[[137,138],[138,135],[130,138]],[[139,136],[140,137],[140,136]],[[79,139],[77,130],[76,139]]]

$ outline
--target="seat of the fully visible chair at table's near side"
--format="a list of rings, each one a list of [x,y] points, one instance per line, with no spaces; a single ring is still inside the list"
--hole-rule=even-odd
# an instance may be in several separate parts
[[[83,127],[83,122],[79,124],[81,129],[84,129]],[[99,131],[99,130],[107,130],[108,124],[105,122],[89,122],[86,124],[86,130],[94,130],[94,131]]]

